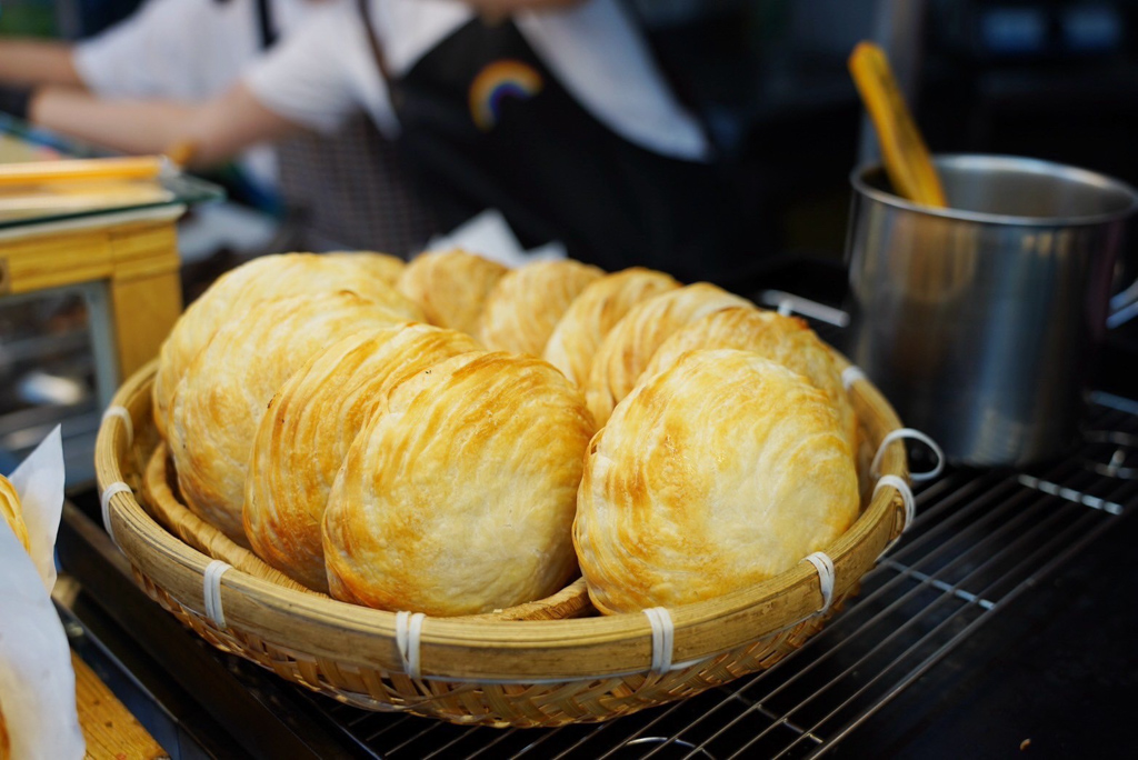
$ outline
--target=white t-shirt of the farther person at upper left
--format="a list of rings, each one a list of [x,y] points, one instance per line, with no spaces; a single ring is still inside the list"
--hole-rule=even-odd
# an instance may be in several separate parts
[[[283,40],[320,5],[271,0],[277,33]],[[76,44],[74,63],[83,83],[101,98],[198,101],[236,84],[262,55],[255,0],[149,0],[130,18]],[[251,148],[241,163],[255,182],[275,183],[270,147]]]

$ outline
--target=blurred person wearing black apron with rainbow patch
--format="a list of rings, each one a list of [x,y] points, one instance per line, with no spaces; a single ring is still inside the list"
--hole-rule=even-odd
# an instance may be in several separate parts
[[[620,0],[347,0],[197,104],[47,89],[33,121],[133,152],[189,141],[197,165],[363,108],[446,231],[497,208],[522,243],[563,242],[731,284],[756,263],[727,166]],[[124,130],[125,124],[133,125]]]

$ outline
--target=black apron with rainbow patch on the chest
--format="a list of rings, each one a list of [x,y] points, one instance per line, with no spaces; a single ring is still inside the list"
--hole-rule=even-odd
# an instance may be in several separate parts
[[[497,208],[525,246],[560,240],[609,271],[645,265],[729,284],[749,269],[742,207],[721,167],[612,132],[512,22],[475,18],[391,77],[368,0],[360,8],[403,126],[401,155],[444,228]]]

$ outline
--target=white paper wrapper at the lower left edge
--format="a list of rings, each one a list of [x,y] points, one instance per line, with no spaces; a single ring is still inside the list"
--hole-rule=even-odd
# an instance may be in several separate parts
[[[32,555],[0,520],[0,709],[11,757],[84,755],[75,707],[75,671],[51,603],[55,545],[64,502],[59,428],[9,476],[20,496]]]

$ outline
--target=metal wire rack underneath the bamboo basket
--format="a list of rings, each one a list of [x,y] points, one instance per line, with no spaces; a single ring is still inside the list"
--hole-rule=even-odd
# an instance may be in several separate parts
[[[655,710],[552,730],[462,728],[314,695],[362,754],[389,758],[822,755],[1138,505],[1138,404],[1097,394],[1086,441],[1026,470],[954,469],[847,609],[764,672]],[[917,455],[916,452],[914,452]]]

